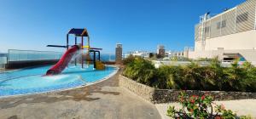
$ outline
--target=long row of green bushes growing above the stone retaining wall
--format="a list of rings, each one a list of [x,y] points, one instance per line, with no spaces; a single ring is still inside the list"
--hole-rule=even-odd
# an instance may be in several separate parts
[[[256,68],[248,62],[240,66],[236,61],[226,68],[218,59],[212,59],[208,66],[191,62],[158,69],[142,58],[130,57],[125,62],[125,77],[154,88],[256,92]]]

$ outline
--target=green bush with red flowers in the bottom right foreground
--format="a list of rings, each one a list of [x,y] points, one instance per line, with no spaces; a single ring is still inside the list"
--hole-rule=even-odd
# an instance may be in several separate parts
[[[230,110],[226,110],[224,105],[213,105],[212,96],[210,95],[192,95],[181,93],[179,95],[179,103],[182,105],[182,109],[176,110],[174,106],[169,106],[167,110],[167,116],[172,118],[204,118],[204,119],[250,119],[250,116],[236,116],[236,113]],[[214,112],[215,109],[215,112]]]

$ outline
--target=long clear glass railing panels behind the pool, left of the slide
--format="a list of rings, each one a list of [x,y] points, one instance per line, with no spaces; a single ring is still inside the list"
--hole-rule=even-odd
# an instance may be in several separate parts
[[[9,61],[60,59],[61,52],[9,49]]]

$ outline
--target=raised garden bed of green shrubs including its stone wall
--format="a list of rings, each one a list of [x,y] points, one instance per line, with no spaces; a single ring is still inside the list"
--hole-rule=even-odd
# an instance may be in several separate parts
[[[150,61],[130,57],[119,84],[152,103],[178,100],[183,90],[189,95],[210,94],[213,99],[256,99],[256,68],[245,62],[222,67],[217,59],[211,65],[165,65],[154,68]]]

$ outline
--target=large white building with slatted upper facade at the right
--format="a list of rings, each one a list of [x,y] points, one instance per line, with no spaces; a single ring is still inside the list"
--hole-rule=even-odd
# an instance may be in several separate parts
[[[256,0],[247,0],[221,14],[201,16],[200,23],[195,25],[195,51],[186,55],[190,59],[240,57],[256,65],[255,10]]]

